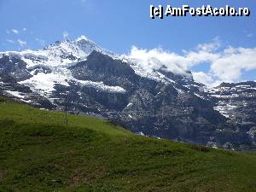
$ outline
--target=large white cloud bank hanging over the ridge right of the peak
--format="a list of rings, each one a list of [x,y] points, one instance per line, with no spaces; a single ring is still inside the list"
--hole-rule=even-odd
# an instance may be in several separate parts
[[[256,69],[256,48],[224,49],[218,38],[211,44],[199,44],[195,50],[183,51],[183,55],[163,49],[138,49],[133,46],[128,57],[137,61],[144,70],[154,70],[166,67],[172,73],[183,74],[196,65],[210,65],[207,72],[194,72],[196,81],[208,86],[220,82],[237,82],[241,80],[244,71]],[[255,75],[256,76],[256,75]]]

